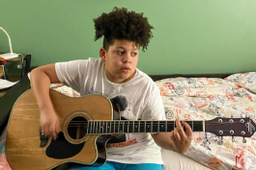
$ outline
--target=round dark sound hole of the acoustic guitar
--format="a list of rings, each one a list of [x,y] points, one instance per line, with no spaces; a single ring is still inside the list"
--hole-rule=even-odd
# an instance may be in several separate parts
[[[82,116],[71,119],[68,126],[68,134],[72,139],[81,139],[86,135],[88,121]]]

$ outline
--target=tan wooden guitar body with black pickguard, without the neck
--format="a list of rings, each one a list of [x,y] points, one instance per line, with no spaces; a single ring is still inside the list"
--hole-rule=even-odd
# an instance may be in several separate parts
[[[105,142],[99,134],[86,134],[80,120],[112,120],[112,105],[101,95],[71,98],[50,89],[54,108],[60,117],[61,133],[56,140],[40,129],[40,110],[32,90],[24,92],[14,104],[7,132],[6,157],[14,170],[52,169],[64,162],[92,164],[105,155]],[[77,121],[79,120],[79,121]],[[71,134],[75,130],[75,134]],[[101,146],[101,148],[98,148]],[[104,162],[104,161],[100,161]]]

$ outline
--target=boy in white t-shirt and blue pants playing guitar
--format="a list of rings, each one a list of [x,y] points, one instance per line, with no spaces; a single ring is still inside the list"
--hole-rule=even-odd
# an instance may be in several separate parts
[[[95,40],[103,36],[100,59],[57,62],[43,65],[31,73],[31,87],[41,110],[43,134],[56,138],[61,131],[58,113],[49,98],[49,85],[63,83],[81,95],[102,94],[109,99],[125,99],[120,109],[130,120],[162,120],[164,108],[155,83],[136,68],[139,48],[144,51],[153,36],[153,27],[143,13],[114,8],[94,19]],[[122,145],[108,144],[107,161],[96,168],[81,169],[161,169],[160,147],[184,153],[191,142],[191,128],[176,119],[170,133],[126,134]],[[117,147],[119,146],[119,147]],[[121,147],[120,147],[121,146]],[[79,169],[78,167],[75,169]]]

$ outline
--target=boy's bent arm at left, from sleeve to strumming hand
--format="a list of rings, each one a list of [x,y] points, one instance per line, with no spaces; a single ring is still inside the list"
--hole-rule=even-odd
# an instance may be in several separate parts
[[[59,117],[53,109],[49,96],[49,87],[52,83],[60,83],[55,64],[47,64],[31,71],[31,88],[34,92],[40,109],[40,123],[43,134],[56,138],[60,132]]]

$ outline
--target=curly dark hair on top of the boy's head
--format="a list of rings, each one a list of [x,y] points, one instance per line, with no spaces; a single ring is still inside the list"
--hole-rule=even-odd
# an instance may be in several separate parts
[[[112,12],[102,13],[94,19],[96,35],[95,40],[101,36],[103,48],[108,50],[109,45],[115,39],[128,39],[135,42],[136,46],[142,47],[144,51],[153,37],[151,29],[154,29],[143,13],[128,12],[126,8],[115,7]]]

